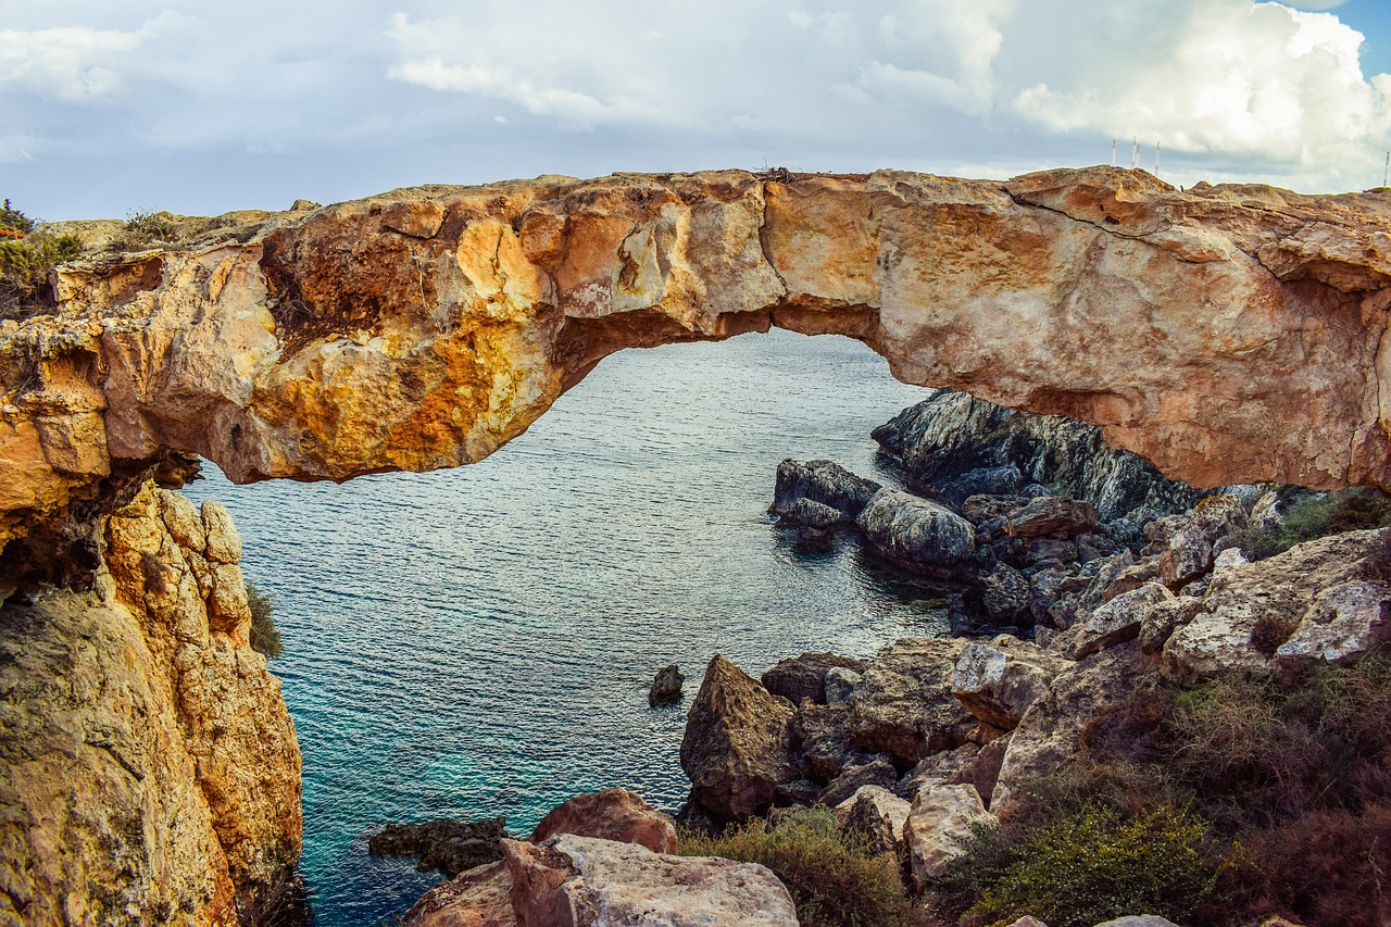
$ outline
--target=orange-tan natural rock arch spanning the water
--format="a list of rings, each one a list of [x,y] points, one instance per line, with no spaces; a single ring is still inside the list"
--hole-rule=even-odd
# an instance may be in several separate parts
[[[479,461],[613,351],[769,326],[1198,486],[1388,486],[1388,231],[1381,193],[1117,168],[540,178],[273,217],[68,266],[56,316],[0,327],[0,543],[167,450],[239,482]]]

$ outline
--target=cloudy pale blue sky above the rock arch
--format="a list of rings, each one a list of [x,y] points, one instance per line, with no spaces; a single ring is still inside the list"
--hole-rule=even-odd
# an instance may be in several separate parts
[[[1383,182],[1385,0],[0,0],[0,196],[218,214],[540,174]]]

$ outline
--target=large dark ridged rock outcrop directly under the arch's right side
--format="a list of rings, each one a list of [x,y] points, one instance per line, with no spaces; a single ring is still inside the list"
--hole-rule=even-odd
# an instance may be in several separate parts
[[[881,425],[874,438],[922,484],[1015,466],[1025,480],[1091,502],[1106,521],[1141,507],[1180,512],[1203,496],[1164,479],[1143,458],[1107,447],[1095,426],[1015,412],[965,393],[943,390]]]

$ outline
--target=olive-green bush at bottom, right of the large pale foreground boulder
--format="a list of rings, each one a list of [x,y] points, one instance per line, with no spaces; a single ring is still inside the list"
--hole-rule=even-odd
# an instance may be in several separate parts
[[[899,859],[842,834],[829,809],[783,811],[775,823],[755,820],[721,837],[683,832],[680,852],[766,866],[787,887],[804,927],[928,923],[904,892]]]

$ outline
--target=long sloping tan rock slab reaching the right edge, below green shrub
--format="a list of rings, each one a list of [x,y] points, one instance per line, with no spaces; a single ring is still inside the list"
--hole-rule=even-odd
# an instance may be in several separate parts
[[[1221,571],[1203,596],[1202,611],[1164,644],[1160,671],[1184,681],[1231,670],[1270,672],[1270,660],[1252,643],[1257,625],[1302,621],[1324,590],[1380,579],[1388,543],[1391,529],[1348,532]]]

